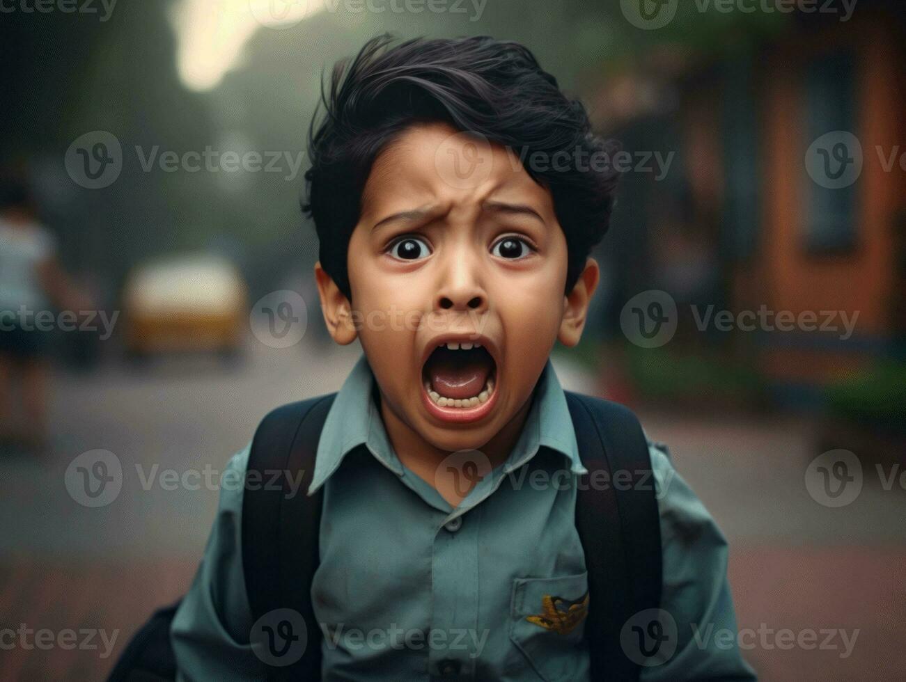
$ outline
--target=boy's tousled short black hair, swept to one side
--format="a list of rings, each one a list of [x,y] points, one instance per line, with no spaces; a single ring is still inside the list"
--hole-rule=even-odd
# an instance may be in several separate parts
[[[525,166],[553,196],[569,251],[566,293],[573,289],[610,225],[619,178],[610,163],[587,160],[615,148],[593,135],[583,104],[564,95],[524,45],[488,36],[394,44],[384,34],[334,66],[321,100],[323,116],[318,120],[316,110],[309,128],[303,211],[314,221],[324,270],[348,298],[347,250],[371,165],[388,142],[420,122],[477,133],[520,158],[583,154],[585,163],[566,168]]]

